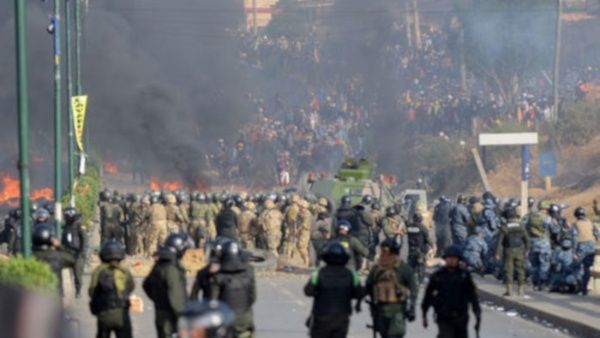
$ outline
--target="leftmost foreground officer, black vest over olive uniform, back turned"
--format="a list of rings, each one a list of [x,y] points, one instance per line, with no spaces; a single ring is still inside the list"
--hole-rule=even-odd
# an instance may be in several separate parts
[[[135,283],[119,263],[125,258],[125,249],[115,240],[105,242],[100,258],[102,264],[92,273],[88,290],[90,310],[97,317],[96,338],[109,338],[112,332],[117,338],[131,338],[129,296]]]

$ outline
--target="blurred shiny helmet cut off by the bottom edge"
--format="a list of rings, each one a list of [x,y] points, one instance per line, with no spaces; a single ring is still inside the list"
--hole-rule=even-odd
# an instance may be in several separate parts
[[[179,316],[179,331],[184,337],[195,337],[192,333],[204,330],[207,338],[231,336],[235,314],[231,308],[218,300],[197,300],[185,305]]]

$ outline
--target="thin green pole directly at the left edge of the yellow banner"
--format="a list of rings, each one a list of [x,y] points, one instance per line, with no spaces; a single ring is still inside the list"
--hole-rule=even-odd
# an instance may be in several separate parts
[[[73,97],[73,52],[71,50],[71,6],[70,0],[65,0],[65,34],[67,39],[67,126],[68,126],[68,169],[69,175],[69,195],[70,201],[69,206],[75,206],[75,199],[73,198],[73,190],[75,188],[75,143],[73,141],[73,111],[71,108],[71,97]]]

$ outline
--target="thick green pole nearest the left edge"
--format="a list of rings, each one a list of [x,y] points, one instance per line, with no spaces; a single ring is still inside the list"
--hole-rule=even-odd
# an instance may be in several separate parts
[[[25,0],[15,0],[15,41],[17,47],[17,107],[19,114],[19,178],[21,182],[21,247],[31,257],[29,209],[29,103],[27,94],[27,18]]]

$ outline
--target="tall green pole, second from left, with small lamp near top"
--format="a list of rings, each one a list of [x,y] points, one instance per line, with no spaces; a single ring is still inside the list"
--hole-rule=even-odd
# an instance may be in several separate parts
[[[60,105],[60,1],[54,0],[54,17],[52,18],[54,41],[54,216],[56,217],[56,234],[60,238],[62,231],[62,111]],[[29,212],[28,212],[29,213]],[[24,214],[28,215],[28,213]]]

